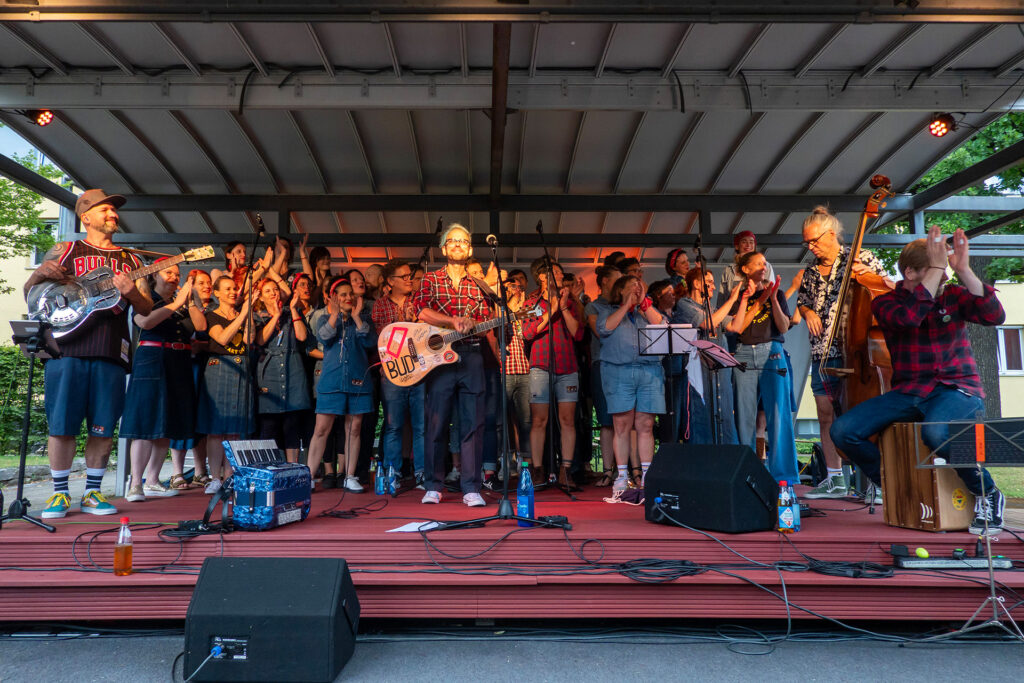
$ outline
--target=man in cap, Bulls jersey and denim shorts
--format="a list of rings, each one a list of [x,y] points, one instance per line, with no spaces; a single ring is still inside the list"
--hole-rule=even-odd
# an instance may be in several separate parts
[[[25,284],[28,296],[32,287],[46,281],[80,278],[108,267],[114,271],[112,284],[122,296],[117,306],[92,313],[79,330],[62,337],[58,342],[62,357],[45,366],[46,420],[50,432],[47,454],[53,495],[46,502],[42,516],[48,519],[63,517],[71,507],[68,477],[75,460],[75,438],[83,420],[89,435],[85,442],[82,512],[94,515],[117,512],[99,493],[99,486],[111,457],[114,426],[124,408],[125,375],[131,350],[128,306],[141,315],[153,309],[150,297],[125,274],[138,268],[141,262],[134,254],[114,245],[117,209],[124,203],[124,197],[108,195],[102,189],[83,193],[75,204],[75,213],[85,228],[85,239],[55,244]]]

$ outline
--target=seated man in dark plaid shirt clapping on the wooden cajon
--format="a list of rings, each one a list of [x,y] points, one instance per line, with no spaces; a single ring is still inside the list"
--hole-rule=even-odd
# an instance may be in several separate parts
[[[946,265],[961,285],[947,285]],[[831,426],[836,445],[881,484],[879,446],[869,439],[894,422],[920,421],[925,443],[945,456],[942,443],[952,420],[984,417],[985,393],[967,336],[967,324],[993,326],[1006,318],[995,290],[971,270],[964,230],[953,236],[947,254],[945,236],[933,225],[926,240],[903,248],[899,257],[903,281],[876,299],[871,312],[879,321],[893,361],[893,388],[865,400]],[[981,416],[980,418],[978,416]],[[956,468],[977,497],[970,531],[997,533],[1006,499],[984,469]]]

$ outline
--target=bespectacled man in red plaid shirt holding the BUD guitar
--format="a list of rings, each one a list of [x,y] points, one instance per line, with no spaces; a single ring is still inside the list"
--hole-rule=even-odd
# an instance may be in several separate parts
[[[423,276],[420,290],[413,296],[413,308],[423,323],[467,333],[477,323],[490,318],[490,308],[483,292],[466,273],[466,261],[473,255],[469,230],[458,223],[449,225],[441,233],[440,246],[447,263],[440,270]],[[427,489],[423,496],[424,503],[441,502],[447,431],[452,411],[458,410],[463,432],[462,500],[470,507],[486,505],[480,496],[484,419],[481,343],[482,337],[478,335],[456,342],[453,350],[459,354],[459,359],[427,375],[427,405],[430,411],[424,444],[423,485]]]

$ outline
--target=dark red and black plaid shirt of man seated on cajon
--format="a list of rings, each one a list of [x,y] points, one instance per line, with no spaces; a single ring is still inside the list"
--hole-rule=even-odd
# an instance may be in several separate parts
[[[924,285],[913,291],[903,285],[871,302],[892,356],[893,389],[924,397],[945,384],[984,398],[967,324],[1002,323],[995,290],[985,285],[976,297],[959,285],[946,285],[932,297]]]

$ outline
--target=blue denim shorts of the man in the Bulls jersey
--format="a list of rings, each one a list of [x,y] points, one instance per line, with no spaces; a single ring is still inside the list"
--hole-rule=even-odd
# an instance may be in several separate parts
[[[78,436],[85,420],[90,436],[110,438],[125,407],[125,370],[103,358],[63,357],[43,370],[46,422],[51,436]]]

